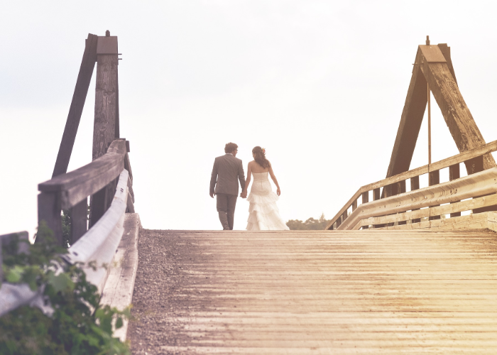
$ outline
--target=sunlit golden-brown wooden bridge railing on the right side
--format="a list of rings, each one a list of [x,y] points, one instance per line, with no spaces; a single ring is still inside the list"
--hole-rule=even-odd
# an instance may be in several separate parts
[[[497,205],[496,195],[484,196],[497,192],[492,180],[497,178],[494,176],[497,168],[483,171],[484,155],[493,151],[497,151],[497,141],[365,185],[339,210],[326,229],[386,228],[394,224],[420,223],[425,217],[440,219],[444,214],[459,217],[461,212],[470,209],[475,213],[484,212]],[[465,163],[467,177],[460,178],[460,163]],[[439,171],[444,168],[449,168],[449,182],[440,183]],[[424,174],[428,174],[429,186],[420,189],[420,175]],[[409,192],[406,192],[406,180],[410,180]],[[473,200],[460,202],[470,197]],[[439,206],[446,203],[450,204]]]

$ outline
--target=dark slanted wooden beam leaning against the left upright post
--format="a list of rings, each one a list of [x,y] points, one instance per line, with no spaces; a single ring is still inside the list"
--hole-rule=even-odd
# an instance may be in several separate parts
[[[80,126],[81,114],[84,102],[87,98],[89,82],[92,80],[95,61],[97,60],[97,35],[88,34],[84,47],[83,59],[81,61],[80,73],[77,75],[75,92],[72,94],[72,102],[67,115],[62,141],[60,142],[59,153],[53,168],[53,175],[58,176],[67,172],[67,165],[71,158],[72,147],[74,146],[77,128]]]

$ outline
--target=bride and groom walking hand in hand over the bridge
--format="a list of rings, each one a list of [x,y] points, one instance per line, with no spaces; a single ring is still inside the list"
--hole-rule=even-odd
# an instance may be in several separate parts
[[[242,190],[240,197],[246,198],[250,203],[246,227],[248,231],[289,230],[276,206],[281,193],[280,185],[273,173],[271,163],[266,159],[266,150],[259,146],[252,149],[253,160],[247,166],[246,180],[241,159],[236,158],[238,146],[235,143],[227,143],[224,146],[224,153],[226,154],[214,160],[209,190],[212,198],[214,195],[217,197],[217,212],[223,229],[233,229],[236,199],[239,192],[238,182],[240,182]],[[252,175],[252,188],[247,197]],[[276,193],[271,189],[269,176],[277,187]]]

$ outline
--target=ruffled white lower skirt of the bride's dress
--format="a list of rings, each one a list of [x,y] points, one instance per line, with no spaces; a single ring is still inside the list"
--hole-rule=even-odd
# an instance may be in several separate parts
[[[256,195],[251,192],[247,201],[250,202],[247,231],[283,231],[290,230],[280,217],[276,206],[278,195],[270,191],[267,195]]]

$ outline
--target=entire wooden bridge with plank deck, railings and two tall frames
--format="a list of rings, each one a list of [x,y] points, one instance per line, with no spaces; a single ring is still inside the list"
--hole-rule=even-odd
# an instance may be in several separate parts
[[[108,265],[87,277],[102,303],[133,303],[116,332],[133,354],[496,354],[497,141],[481,136],[447,45],[417,50],[386,179],[324,231],[142,229],[119,136],[118,55],[116,37],[89,35],[38,217],[70,244],[67,263]],[[95,62],[94,160],[66,173]],[[430,91],[460,153],[409,170]],[[0,316],[40,297],[22,287],[2,285]]]

